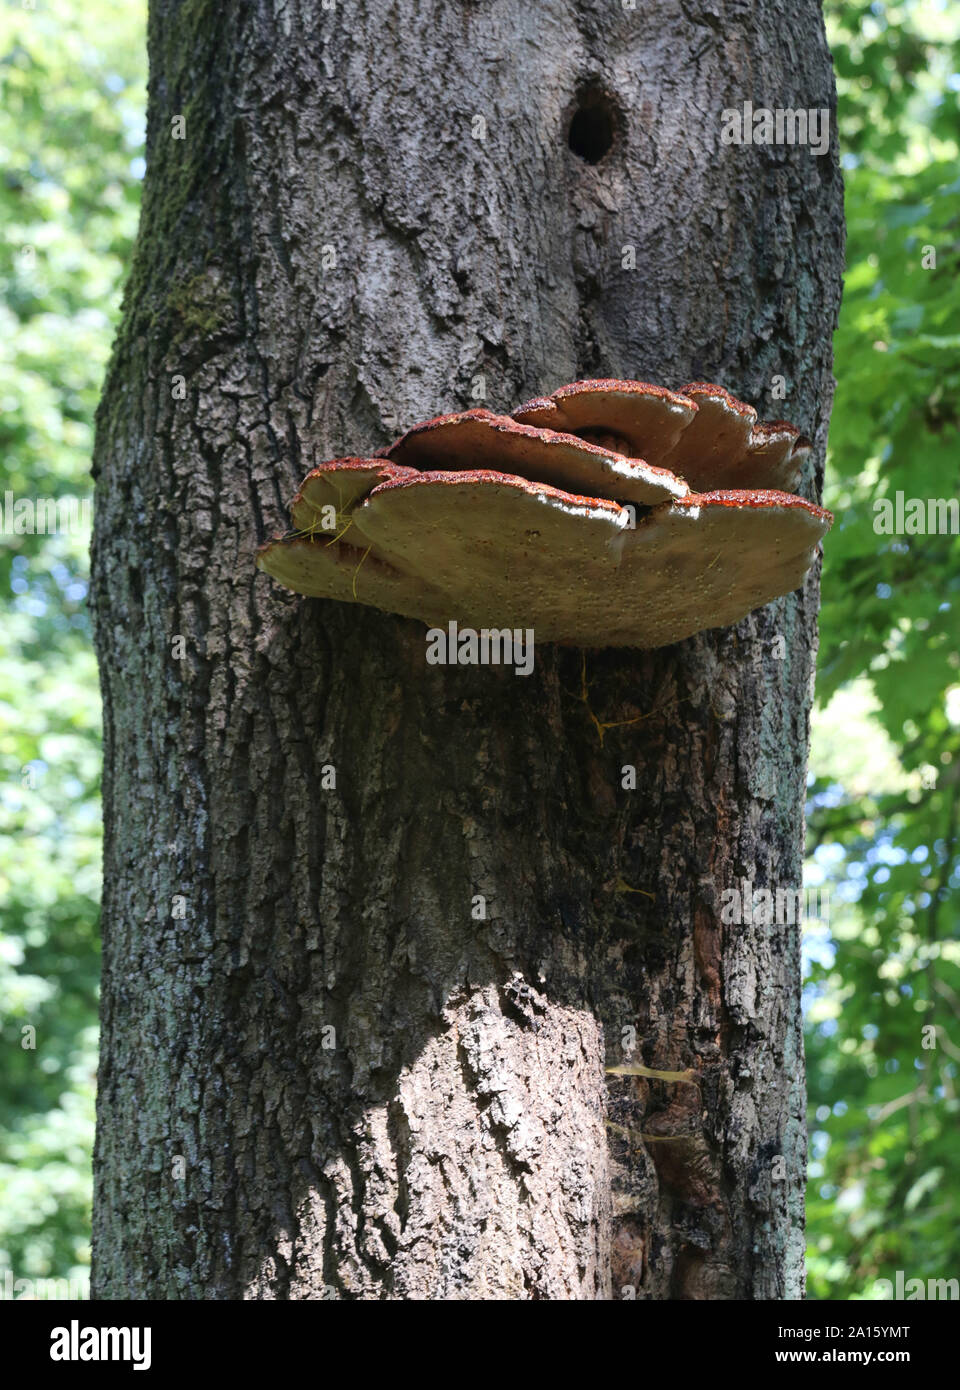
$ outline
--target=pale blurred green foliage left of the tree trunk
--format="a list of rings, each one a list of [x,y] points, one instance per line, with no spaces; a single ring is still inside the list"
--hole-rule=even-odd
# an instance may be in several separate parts
[[[143,28],[122,0],[0,8],[0,505],[92,495],[93,411],[136,227]],[[100,709],[88,546],[89,528],[0,534],[0,1272],[14,1277],[89,1264]]]

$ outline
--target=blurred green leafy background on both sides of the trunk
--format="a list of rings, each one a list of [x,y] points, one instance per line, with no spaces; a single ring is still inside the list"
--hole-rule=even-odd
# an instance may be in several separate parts
[[[849,270],[810,777],[810,883],[829,888],[831,922],[806,952],[809,1284],[870,1298],[897,1269],[960,1276],[960,538],[874,531],[879,496],[960,493],[960,11],[828,0],[827,18]],[[0,8],[0,499],[92,493],[143,170],[144,29],[140,0]],[[88,542],[0,538],[0,1275],[15,1277],[89,1262]]]

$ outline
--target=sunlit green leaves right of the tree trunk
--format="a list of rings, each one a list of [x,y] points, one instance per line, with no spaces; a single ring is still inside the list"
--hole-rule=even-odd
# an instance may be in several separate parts
[[[809,1290],[960,1276],[960,537],[881,498],[960,496],[960,15],[828,6],[847,274],[811,753]],[[929,1045],[929,1044],[935,1045]]]

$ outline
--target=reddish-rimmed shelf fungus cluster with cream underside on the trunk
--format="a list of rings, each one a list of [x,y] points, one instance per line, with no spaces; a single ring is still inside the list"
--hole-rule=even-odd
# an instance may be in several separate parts
[[[257,563],[297,594],[539,642],[664,646],[803,582],[810,442],[722,386],[578,381],[314,468]]]

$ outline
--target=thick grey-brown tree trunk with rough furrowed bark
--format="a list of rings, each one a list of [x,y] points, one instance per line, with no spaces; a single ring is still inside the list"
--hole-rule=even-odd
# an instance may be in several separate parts
[[[816,575],[518,680],[253,560],[313,463],[483,386],[720,381],[814,435],[814,496],[836,158],[720,133],[832,111],[820,8],[326,3],[151,7],[96,456],[94,1294],[797,1297],[797,930],[720,897],[800,883]]]

